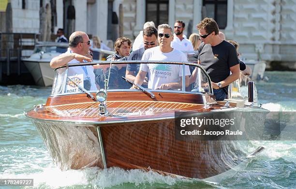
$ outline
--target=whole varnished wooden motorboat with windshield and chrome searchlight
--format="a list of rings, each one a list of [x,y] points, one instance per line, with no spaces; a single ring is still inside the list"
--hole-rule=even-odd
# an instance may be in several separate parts
[[[182,76],[185,76],[185,66],[195,66],[201,77],[193,83],[198,90],[192,92],[191,87],[185,86],[184,77],[179,81],[179,88],[170,90],[132,90],[130,83],[123,87],[112,79],[121,76],[108,72],[110,66],[122,63],[127,62],[77,63],[56,69],[52,94],[46,104],[26,113],[60,169],[116,166],[219,182],[224,173],[236,170],[264,149],[260,147],[248,157],[237,146],[239,141],[176,138],[177,111],[191,111],[201,116],[210,112],[238,113],[239,128],[247,131],[252,130],[248,126],[256,125],[253,133],[257,134],[264,129],[264,124],[259,123],[261,116],[244,117],[241,112],[257,110],[265,115],[266,110],[246,102],[244,95],[236,94],[240,100],[216,102],[210,78],[200,65],[148,62],[160,65],[161,69],[168,64],[178,65]],[[79,66],[93,69],[100,91],[84,89],[83,73],[70,76],[71,69],[79,70]],[[112,84],[112,81],[119,83]],[[79,92],[69,90],[71,87]]]

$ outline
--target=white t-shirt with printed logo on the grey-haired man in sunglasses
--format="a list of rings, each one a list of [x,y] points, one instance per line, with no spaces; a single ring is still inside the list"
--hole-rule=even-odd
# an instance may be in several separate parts
[[[142,61],[188,62],[184,53],[177,49],[171,52],[161,52],[160,47],[145,50]],[[182,65],[162,63],[142,63],[140,70],[148,72],[148,88],[155,89],[165,83],[178,82],[182,77]],[[185,65],[185,75],[190,75],[189,66]]]

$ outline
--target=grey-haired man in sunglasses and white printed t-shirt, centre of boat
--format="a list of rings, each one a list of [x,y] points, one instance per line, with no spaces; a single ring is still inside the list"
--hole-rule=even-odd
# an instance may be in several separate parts
[[[158,47],[147,49],[142,61],[187,62],[187,57],[181,51],[171,47],[173,29],[168,24],[158,26]],[[182,65],[162,63],[142,63],[136,76],[135,84],[142,85],[146,74],[149,74],[149,89],[178,89],[182,87]],[[185,66],[185,83],[189,82],[189,66]],[[133,86],[132,88],[136,88]]]

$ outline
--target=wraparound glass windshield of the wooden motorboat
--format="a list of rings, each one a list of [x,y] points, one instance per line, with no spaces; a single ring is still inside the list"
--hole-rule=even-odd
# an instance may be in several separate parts
[[[206,71],[196,63],[115,61],[111,64],[68,64],[55,70],[52,95],[83,93],[76,84],[89,92],[100,89],[143,91],[144,88],[146,91],[212,94]]]

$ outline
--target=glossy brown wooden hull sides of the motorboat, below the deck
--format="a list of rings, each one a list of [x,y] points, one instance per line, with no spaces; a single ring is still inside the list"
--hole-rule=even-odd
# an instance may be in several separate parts
[[[104,168],[96,125],[33,123],[62,170]],[[203,179],[237,166],[237,157],[244,155],[230,141],[176,140],[173,119],[100,125],[100,130],[107,167],[157,170]]]

